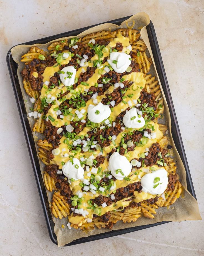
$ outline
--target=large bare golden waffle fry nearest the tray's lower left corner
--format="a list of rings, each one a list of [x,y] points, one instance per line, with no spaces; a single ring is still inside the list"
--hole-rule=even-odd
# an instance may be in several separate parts
[[[51,201],[52,214],[61,220],[63,217],[67,217],[69,209],[70,207],[64,200],[64,196],[60,195],[60,192],[54,192]]]

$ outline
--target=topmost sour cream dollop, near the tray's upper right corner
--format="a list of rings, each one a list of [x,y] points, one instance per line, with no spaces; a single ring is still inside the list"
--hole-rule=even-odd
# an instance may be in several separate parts
[[[110,59],[108,59],[108,63],[117,73],[123,73],[126,71],[127,67],[131,64],[131,56],[124,52],[112,52],[110,54]],[[113,63],[117,61],[116,63]]]

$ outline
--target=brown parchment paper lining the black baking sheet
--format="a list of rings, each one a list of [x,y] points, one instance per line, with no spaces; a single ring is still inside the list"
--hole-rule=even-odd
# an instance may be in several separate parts
[[[101,25],[95,26],[93,28],[90,28],[76,36],[84,36],[89,33],[98,32],[98,31],[102,31],[102,30],[107,31],[107,30],[111,29],[111,31],[113,31],[118,28],[127,28],[127,23],[129,25],[131,25],[131,24],[133,24],[132,23],[133,21],[135,21],[135,24],[133,27],[134,29],[138,29],[139,27],[142,27],[141,38],[146,43],[147,49],[149,50],[149,52],[148,52],[148,50],[146,50],[146,53],[147,53],[147,55],[148,54],[151,55],[151,58],[152,58],[152,61],[154,64],[151,66],[150,73],[157,77],[157,80],[159,81],[159,84],[160,84],[160,87],[162,90],[162,96],[164,98],[164,105],[165,105],[165,120],[168,125],[169,139],[170,139],[171,145],[173,146],[173,149],[174,149],[174,160],[177,165],[177,173],[180,176],[180,181],[181,181],[185,191],[184,191],[184,195],[180,196],[180,198],[178,198],[178,200],[172,206],[170,206],[169,209],[167,209],[166,207],[161,207],[161,208],[159,207],[156,210],[157,214],[154,215],[154,217],[155,217],[154,219],[147,219],[145,217],[140,217],[140,218],[138,218],[138,220],[136,222],[131,222],[131,223],[123,223],[122,221],[118,221],[118,223],[116,223],[116,225],[114,225],[113,230],[118,230],[118,229],[123,229],[123,228],[128,228],[128,227],[136,227],[136,226],[140,226],[140,225],[147,225],[147,224],[152,224],[152,223],[161,222],[161,221],[201,220],[201,216],[200,216],[199,209],[198,209],[198,203],[195,200],[195,198],[193,198],[193,196],[187,190],[185,168],[183,166],[182,160],[178,154],[178,151],[177,151],[175,144],[173,142],[173,139],[172,139],[169,108],[166,103],[165,95],[164,95],[164,92],[162,89],[162,84],[160,83],[159,77],[157,75],[157,70],[155,67],[154,58],[152,55],[149,38],[147,35],[147,30],[146,30],[146,26],[150,22],[149,16],[146,13],[137,13],[137,14],[133,15],[131,18],[127,19],[127,21],[124,21],[120,26],[111,24],[111,23],[101,24]],[[72,37],[73,36],[67,37],[67,38],[72,38]],[[65,39],[65,38],[59,38],[58,40],[63,40],[63,39]],[[57,40],[54,40],[54,41],[57,41]],[[51,42],[49,42],[45,45],[35,44],[32,46],[38,46],[39,48],[46,50],[47,46],[49,46]],[[11,49],[11,53],[12,53],[12,57],[13,57],[14,61],[16,61],[19,64],[18,78],[19,78],[23,97],[25,100],[27,100],[27,102],[25,102],[27,112],[29,111],[31,104],[29,103],[29,100],[28,100],[29,96],[25,93],[25,90],[23,88],[22,77],[21,77],[20,72],[24,67],[24,63],[21,63],[20,60],[21,60],[21,56],[23,54],[27,53],[29,48],[30,48],[30,45],[18,45]],[[34,120],[32,118],[29,118],[29,122],[32,127]],[[40,137],[43,138],[43,136],[39,135],[39,134],[33,133],[33,135],[34,135],[35,141],[37,141]],[[37,149],[37,145],[36,145],[36,149]],[[41,161],[40,161],[40,169],[41,169],[41,171],[43,171],[43,169],[44,169],[44,164],[42,164]],[[48,193],[48,198],[49,198],[49,200],[51,200],[52,193]],[[94,230],[92,230],[90,232],[83,232],[81,230],[75,230],[74,228],[69,230],[66,226],[67,218],[63,218],[62,220],[59,220],[58,218],[55,218],[53,216],[53,220],[55,223],[55,234],[57,235],[58,247],[63,246],[67,243],[70,243],[73,240],[81,238],[81,237],[88,237],[90,235],[96,235],[99,233],[104,233],[104,232],[109,231],[104,228],[102,228],[101,230],[98,228],[95,228]],[[62,228],[62,224],[65,225],[65,228]]]

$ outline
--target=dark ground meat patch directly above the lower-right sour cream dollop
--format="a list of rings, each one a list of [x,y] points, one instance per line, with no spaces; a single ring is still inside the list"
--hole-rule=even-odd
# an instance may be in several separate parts
[[[158,156],[159,152],[162,152],[162,158],[164,159],[164,154],[166,153],[166,151],[160,147],[159,143],[154,143],[149,148],[148,156],[145,156],[145,158],[140,157],[139,161],[144,161],[144,164],[146,164],[146,166],[152,166],[153,164],[157,164],[157,160],[160,161],[160,156]]]

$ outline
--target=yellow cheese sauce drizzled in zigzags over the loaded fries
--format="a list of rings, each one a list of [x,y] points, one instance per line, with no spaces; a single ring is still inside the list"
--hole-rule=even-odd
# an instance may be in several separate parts
[[[127,46],[129,46],[129,38],[126,38],[124,36],[122,36],[121,34],[117,34],[117,37],[114,38],[113,40],[111,40],[111,42],[106,46],[108,48],[108,52],[107,53],[103,53],[103,57],[101,58],[102,60],[109,56],[109,48],[110,47],[115,47],[116,46],[116,43],[122,43],[123,45],[123,51],[124,52],[127,52],[129,53],[129,50],[126,48]],[[98,55],[95,55],[91,58],[91,63],[88,63],[86,67],[81,67],[77,70],[77,73],[76,73],[76,77],[78,78],[82,72],[82,68],[86,71],[87,67],[93,67],[93,60],[96,60],[98,59]],[[69,61],[71,60],[71,56],[69,56],[66,60],[63,60],[63,62],[61,63],[62,65],[63,64],[68,64]],[[108,63],[104,63],[103,65],[108,65]],[[45,81],[49,81],[50,78],[54,75],[55,72],[58,72],[59,70],[59,66],[57,67],[46,67],[45,68],[45,71],[43,73],[43,82]],[[105,73],[105,72],[104,72]],[[36,74],[34,74],[36,75]],[[144,88],[145,86],[145,83],[146,83],[146,80],[143,78],[143,73],[135,73],[135,72],[132,72],[128,75],[124,75],[123,78],[128,81],[128,82],[133,82],[132,85],[127,89],[127,91],[124,93],[124,96],[127,96],[128,94],[132,94],[133,93],[133,97],[131,99],[129,99],[131,102],[132,100],[137,100],[140,96],[140,92],[142,90],[142,88]],[[88,86],[85,86],[85,85],[78,85],[78,87],[75,89],[76,92],[83,92],[84,89],[88,89],[90,88],[91,86],[94,86],[95,83],[97,82],[97,80],[101,77],[101,75],[98,73],[98,69],[96,68],[95,70],[95,73],[93,74],[92,77],[90,77],[88,79],[88,81],[86,81],[86,83],[88,83]],[[80,88],[80,89],[79,89]],[[111,93],[113,92],[114,90],[114,87],[113,86],[110,86],[108,88],[108,90],[103,94],[103,95],[100,95],[97,97],[97,100],[98,102],[100,102],[103,98],[105,98],[105,94],[106,93]],[[63,91],[63,93],[65,93],[67,91],[67,87],[66,86],[59,86],[59,87],[55,87],[52,89],[52,91],[47,91],[47,88],[46,87],[42,87],[41,89],[41,96],[40,98],[44,98],[46,97],[46,95],[49,93],[51,94],[52,96],[55,96],[56,97],[56,94],[60,93],[61,91]],[[70,99],[72,97],[72,93],[68,93],[66,96],[66,99]],[[84,119],[86,118],[86,113],[87,113],[87,108],[88,108],[88,105],[90,104],[93,104],[93,100],[90,99],[86,102],[86,107],[81,107],[80,109],[78,109],[79,111],[81,109],[85,109],[85,115],[84,115]],[[132,105],[134,105],[134,103],[132,102]],[[53,110],[57,105],[52,105],[48,111],[48,115],[51,115],[54,119],[57,119],[57,115],[55,114],[55,111]],[[113,121],[116,119],[116,117],[122,112],[124,111],[125,109],[127,109],[129,106],[128,104],[124,104],[123,102],[120,102],[117,106],[115,106],[113,108],[113,111],[111,112],[111,117],[113,118]],[[73,109],[72,110],[72,113],[74,114],[75,113],[75,110],[76,109]],[[65,124],[65,122],[67,122],[68,124],[70,123],[70,120],[69,120],[70,116],[68,116],[68,118],[64,118],[63,120],[61,119],[57,119],[57,122],[51,122],[53,126],[55,127],[61,127],[62,125]],[[136,147],[134,151],[129,151],[127,152],[127,154],[125,154],[124,156],[127,157],[127,159],[129,161],[131,161],[132,159],[134,158],[139,158],[139,154],[141,154],[142,152],[145,151],[145,148],[146,147],[151,147],[151,145],[155,142],[158,142],[163,134],[162,132],[159,130],[159,125],[154,123],[154,122],[150,122],[150,124],[154,125],[154,128],[155,128],[155,133],[156,133],[156,138],[155,139],[147,139],[147,144],[145,146],[142,146],[142,147]],[[85,127],[83,129],[83,131],[81,131],[78,136],[81,136],[81,135],[85,135],[87,134],[87,132],[90,130],[90,127]],[[112,151],[113,147],[118,147],[120,142],[121,142],[121,138],[122,138],[122,134],[124,132],[128,132],[127,129],[125,129],[123,132],[120,132],[115,140],[115,144],[116,145],[113,145],[113,143],[111,143],[108,147],[104,147],[103,148],[103,156],[106,157],[107,154],[109,152]],[[66,137],[62,137],[60,139],[60,143],[59,143],[59,146],[58,148],[60,149],[60,154],[58,156],[55,156],[52,160],[50,160],[50,164],[57,164],[59,165],[59,169],[62,169],[62,161],[63,162],[67,162],[70,157],[64,157],[63,155],[65,153],[68,153],[70,154],[70,151],[68,150],[67,148],[67,144],[64,144],[63,141],[66,139]],[[70,142],[72,143],[72,142]],[[63,149],[63,151],[62,151]],[[63,152],[63,153],[62,153]],[[95,157],[98,156],[98,153],[100,151],[95,151],[95,152],[84,152],[84,153],[81,153],[81,152],[78,152],[77,156],[75,157],[80,157],[80,156],[84,156],[85,158],[88,158],[89,156],[91,155],[94,155]],[[154,165],[153,166],[155,169],[158,169],[159,167],[157,165]],[[104,171],[108,171],[108,161],[105,159],[104,163],[100,165],[100,168],[102,168],[102,172]],[[144,168],[147,168],[146,166],[144,166]],[[130,173],[130,181],[126,181],[126,180],[117,180],[114,182],[114,189],[112,191],[109,192],[109,194],[113,193],[114,190],[118,189],[118,188],[121,188],[121,187],[126,187],[128,184],[131,184],[131,183],[134,183],[134,182],[137,182],[139,181],[140,179],[138,178],[137,174],[134,174],[135,172],[137,172],[141,177],[145,174],[145,172],[142,171],[142,168],[137,170],[135,168],[132,169],[132,172]],[[87,176],[87,172],[85,171],[85,174],[84,174],[84,177],[85,178],[89,178]],[[73,192],[73,194],[75,195],[77,191],[82,191],[81,190],[81,186],[79,185],[81,181],[78,180],[78,181],[74,181],[70,184],[70,188]],[[77,216],[73,216],[73,213],[68,216],[68,220],[70,221],[70,223],[73,223],[73,224],[77,224],[78,226],[81,226],[83,222],[86,222],[86,218],[93,218],[93,214],[94,214],[94,211],[91,210],[91,209],[87,209],[88,206],[90,206],[88,204],[88,200],[90,199],[94,199],[96,197],[98,197],[99,195],[101,195],[100,193],[96,192],[95,195],[93,195],[92,193],[90,192],[87,192],[87,193],[84,193],[83,195],[83,198],[84,200],[82,201],[82,204],[80,205],[80,208],[83,208],[84,210],[87,210],[89,212],[89,214],[86,216],[86,217],[83,217],[82,215],[77,215]],[[117,210],[119,207],[123,206],[123,207],[126,207],[128,206],[132,200],[135,201],[136,203],[139,203],[143,200],[146,200],[146,199],[150,199],[150,198],[154,198],[156,195],[150,195],[149,193],[145,193],[145,192],[141,192],[141,193],[138,193],[138,191],[134,191],[134,196],[132,197],[128,197],[128,198],[124,198],[122,200],[119,200],[117,201],[116,203],[112,203],[110,206],[106,206],[104,208],[100,207],[101,208],[101,215],[105,214],[106,212],[108,211],[113,211],[113,210]],[[130,201],[127,201],[128,199],[132,199]]]

